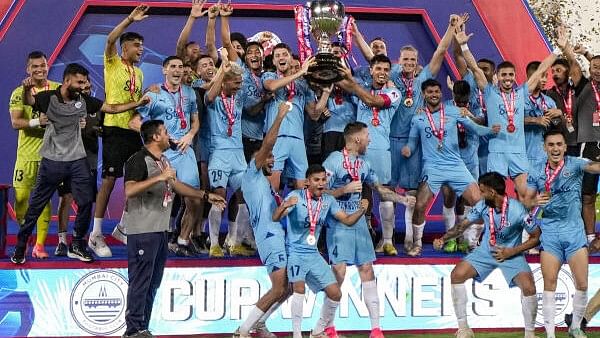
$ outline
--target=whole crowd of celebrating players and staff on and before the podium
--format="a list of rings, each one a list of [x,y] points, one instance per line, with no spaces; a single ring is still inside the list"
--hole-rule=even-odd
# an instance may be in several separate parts
[[[193,0],[176,55],[163,62],[164,83],[146,89],[135,66],[144,39],[125,30],[148,16],[148,6],[136,7],[113,29],[104,52],[106,102],[90,96],[85,68],[68,65],[59,84],[47,79],[44,54],[29,54],[29,77],[10,102],[12,125],[19,130],[13,183],[21,224],[12,262],[25,262],[36,224],[32,256],[49,256],[44,250],[48,201],[57,189],[55,254],[93,260],[84,238],[95,195],[88,246],[97,256],[110,257],[102,222],[115,181],[124,177],[127,201],[113,236],[127,244],[130,286],[138,286],[128,294],[125,336],[151,336],[149,311],[168,247],[179,256],[207,250],[210,257],[250,256],[258,250],[272,289],[235,337],[273,337],[265,321],[290,297],[293,335],[301,337],[306,286],[325,292],[311,337],[336,337],[333,318],[347,265],[358,268],[371,337],[383,337],[375,253],[398,254],[393,235],[401,204],[403,248],[407,255],[421,255],[425,213],[441,193],[447,232],[434,248],[470,251],[451,275],[457,336],[474,336],[467,325],[464,282],[483,280],[495,268],[522,290],[525,337],[534,336],[537,296],[523,253],[541,242],[547,337],[554,337],[554,290],[564,262],[576,289],[569,334],[585,337],[582,321],[593,317],[600,302],[592,298],[586,312],[588,246],[600,247],[594,216],[600,56],[571,46],[565,29],[557,28],[558,48],[531,62],[527,82],[518,86],[512,63],[496,66],[474,58],[468,47],[472,34],[465,32],[468,15],[450,16],[424,66],[412,46],[402,47],[398,63],[392,63],[385,41],[367,43],[354,24],[354,40],[369,66],[351,69],[342,61],[343,79],[323,86],[304,79],[314,59],[301,64],[288,45],[272,44],[269,34],[249,42],[230,33],[232,6],[204,9],[205,2]],[[188,42],[194,22],[203,16],[208,17],[204,51]],[[450,46],[461,80],[448,80],[452,98],[443,99],[435,78]],[[590,61],[589,79],[575,53]],[[333,54],[346,60],[343,44],[334,43]],[[549,69],[554,86],[547,90]],[[95,192],[100,134],[102,184]],[[515,184],[516,198],[508,197],[507,178]],[[284,186],[290,187],[285,197]],[[219,233],[228,190],[223,247]],[[375,246],[373,193],[382,232]],[[67,245],[73,199],[78,212]],[[329,262],[317,245],[321,234]]]

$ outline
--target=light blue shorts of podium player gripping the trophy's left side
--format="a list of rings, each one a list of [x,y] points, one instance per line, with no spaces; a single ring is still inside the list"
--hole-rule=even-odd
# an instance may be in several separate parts
[[[308,159],[306,158],[306,146],[301,139],[279,136],[273,148],[273,157],[275,157],[273,171],[283,171],[284,168],[288,168],[289,170],[286,172],[289,173],[290,178],[296,180],[305,178]]]

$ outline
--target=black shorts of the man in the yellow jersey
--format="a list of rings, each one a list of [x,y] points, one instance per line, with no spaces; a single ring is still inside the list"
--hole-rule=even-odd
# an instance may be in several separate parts
[[[102,178],[123,177],[125,162],[143,146],[142,138],[133,130],[104,127],[102,130]]]

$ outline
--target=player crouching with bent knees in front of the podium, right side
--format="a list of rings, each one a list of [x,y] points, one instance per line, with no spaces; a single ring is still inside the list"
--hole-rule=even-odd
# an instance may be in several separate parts
[[[465,281],[474,278],[482,282],[495,269],[500,269],[510,287],[518,286],[521,289],[525,338],[534,338],[537,295],[533,274],[523,253],[539,244],[540,229],[528,222],[528,210],[519,201],[506,195],[502,175],[496,172],[483,174],[479,178],[479,189],[483,201],[471,209],[466,219],[433,242],[433,247],[440,250],[445,242],[459,237],[472,224],[484,223],[486,229],[481,246],[458,263],[450,274],[452,302],[458,321],[456,337],[475,336],[467,324]],[[523,230],[531,234],[525,243],[521,243]]]

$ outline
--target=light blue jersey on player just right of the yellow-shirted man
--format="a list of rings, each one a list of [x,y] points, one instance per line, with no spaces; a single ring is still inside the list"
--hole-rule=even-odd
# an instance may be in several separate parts
[[[170,93],[164,86],[160,87],[159,93],[148,92],[146,95],[150,97],[150,103],[137,109],[144,119],[162,120],[169,136],[176,140],[190,131],[192,116],[198,115],[196,93],[186,85],[181,85],[180,88],[175,93]],[[185,128],[181,128],[182,123],[177,114],[179,106],[183,109]]]

